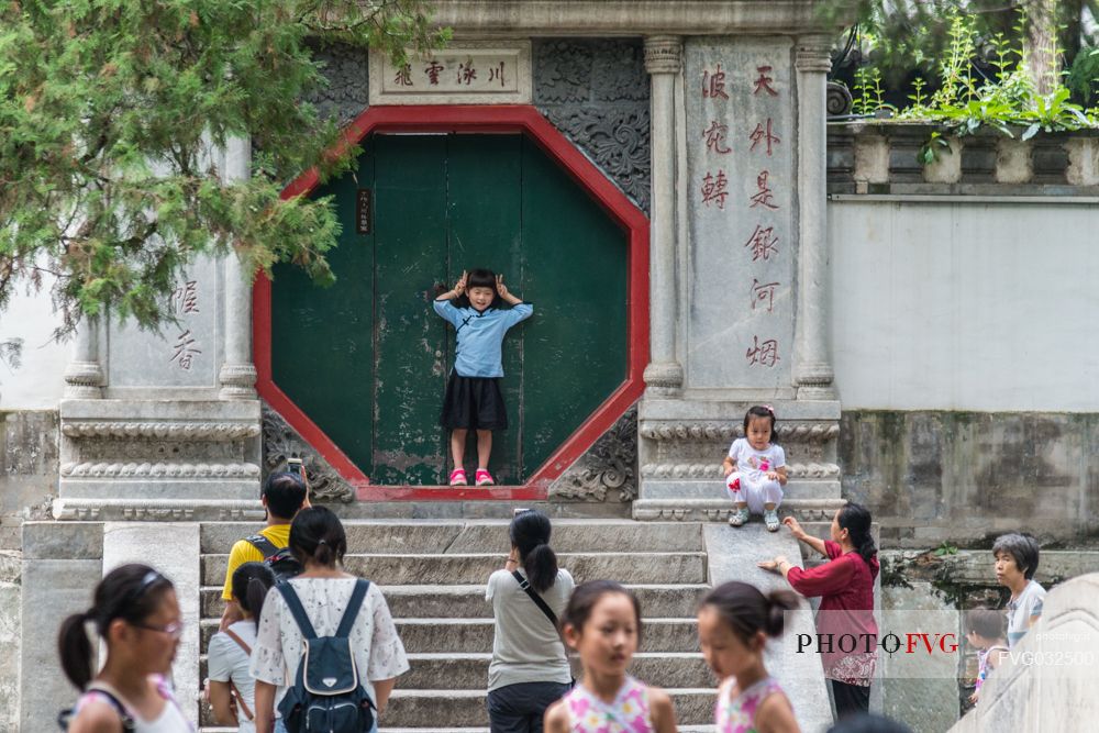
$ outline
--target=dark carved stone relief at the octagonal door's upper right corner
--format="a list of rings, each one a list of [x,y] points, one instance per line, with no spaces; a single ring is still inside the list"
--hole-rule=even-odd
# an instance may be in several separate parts
[[[640,40],[534,41],[534,103],[646,213],[648,77]]]

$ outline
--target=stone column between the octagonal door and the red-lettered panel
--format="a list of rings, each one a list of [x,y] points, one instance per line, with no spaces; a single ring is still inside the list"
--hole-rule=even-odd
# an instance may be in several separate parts
[[[648,298],[650,363],[645,367],[651,395],[677,393],[684,370],[676,357],[676,79],[682,69],[682,41],[677,36],[645,38],[645,70],[652,76],[653,196],[650,227]]]

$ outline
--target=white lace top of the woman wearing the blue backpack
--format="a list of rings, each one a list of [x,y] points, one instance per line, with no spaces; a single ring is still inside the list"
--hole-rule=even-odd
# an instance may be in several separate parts
[[[293,578],[290,585],[301,599],[306,615],[318,636],[331,636],[340,626],[344,609],[355,588],[355,578]],[[359,675],[368,680],[391,679],[409,669],[404,645],[397,635],[397,626],[389,614],[389,607],[378,586],[370,588],[363,599],[358,618],[351,630],[351,644]],[[275,704],[282,699],[285,688],[297,678],[298,665],[304,654],[298,624],[286,607],[286,601],[271,588],[259,618],[256,645],[252,647],[248,671],[257,680],[276,685],[280,689]],[[367,686],[371,698],[374,689]]]

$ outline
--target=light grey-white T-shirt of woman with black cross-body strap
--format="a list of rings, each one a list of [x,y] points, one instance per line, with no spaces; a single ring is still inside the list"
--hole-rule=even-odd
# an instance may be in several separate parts
[[[520,574],[525,576],[522,570]],[[541,593],[558,619],[575,586],[568,570],[560,568],[553,586]],[[492,662],[488,667],[489,691],[521,682],[568,685],[573,680],[560,634],[511,573],[493,573],[485,598],[492,603],[496,619]]]

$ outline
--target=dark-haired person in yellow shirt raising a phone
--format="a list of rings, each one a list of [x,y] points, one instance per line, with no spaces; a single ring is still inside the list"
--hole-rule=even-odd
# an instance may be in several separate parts
[[[267,476],[259,500],[267,512],[267,526],[258,533],[238,540],[229,553],[225,585],[221,598],[225,611],[221,617],[221,631],[244,619],[241,607],[233,599],[233,573],[245,563],[266,563],[275,580],[286,580],[301,573],[301,564],[287,549],[290,541],[290,522],[307,506],[309,488],[300,474],[274,471]]]

